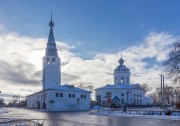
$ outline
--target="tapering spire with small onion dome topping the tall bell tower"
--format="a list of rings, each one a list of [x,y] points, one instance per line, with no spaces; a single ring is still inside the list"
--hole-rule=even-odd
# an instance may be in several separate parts
[[[54,33],[53,33],[54,22],[52,21],[52,12],[51,12],[51,21],[49,22],[49,26],[50,26],[50,32],[49,32],[48,43],[46,48],[46,56],[58,56]]]

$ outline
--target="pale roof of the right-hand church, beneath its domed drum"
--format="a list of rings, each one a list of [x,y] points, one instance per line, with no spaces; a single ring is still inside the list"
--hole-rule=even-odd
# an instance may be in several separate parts
[[[138,90],[144,90],[143,87],[140,84],[119,84],[119,85],[113,85],[113,84],[107,84],[103,87],[97,88],[98,89],[138,89]]]

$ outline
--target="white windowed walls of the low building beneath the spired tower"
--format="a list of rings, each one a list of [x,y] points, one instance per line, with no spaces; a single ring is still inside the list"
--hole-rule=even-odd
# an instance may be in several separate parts
[[[63,93],[63,97],[56,97],[56,92]],[[90,93],[56,90],[47,90],[46,93],[47,98],[45,99],[45,102],[47,110],[73,111],[88,110],[90,108]],[[41,104],[40,108],[43,108],[43,97],[38,99],[38,96],[41,96],[42,94],[43,93],[37,93],[27,97],[27,107],[37,108],[38,101]],[[75,94],[75,98],[69,98],[69,94]],[[86,95],[86,98],[81,98],[81,94],[83,94],[83,96]]]

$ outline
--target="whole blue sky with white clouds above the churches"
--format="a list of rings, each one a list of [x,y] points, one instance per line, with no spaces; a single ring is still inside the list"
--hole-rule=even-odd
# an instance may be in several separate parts
[[[1,97],[41,90],[53,13],[62,84],[113,84],[123,54],[131,83],[160,86],[162,62],[180,37],[178,0],[0,0]],[[166,84],[171,79],[166,77]]]

